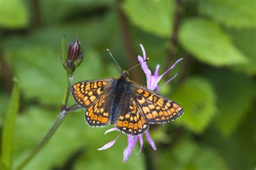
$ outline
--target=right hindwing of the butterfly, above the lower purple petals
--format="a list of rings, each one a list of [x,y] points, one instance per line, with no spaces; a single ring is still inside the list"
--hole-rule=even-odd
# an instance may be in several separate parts
[[[128,110],[120,111],[116,121],[117,129],[133,136],[144,133],[149,128],[149,124],[142,116],[142,112],[133,98],[131,98]]]

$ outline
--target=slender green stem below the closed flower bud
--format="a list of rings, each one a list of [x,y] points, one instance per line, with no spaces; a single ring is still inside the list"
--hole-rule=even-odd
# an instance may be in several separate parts
[[[66,105],[68,103],[68,99],[69,99],[70,87],[72,84],[72,80],[73,80],[73,75],[70,73],[67,73],[67,86],[66,86],[65,95],[63,98],[62,108],[61,108],[61,111],[59,112],[57,119],[53,123],[53,125],[52,125],[51,129],[48,131],[48,133],[46,133],[44,138],[40,141],[40,143],[35,148],[33,148],[33,150],[30,152],[28,157],[26,157],[21,162],[21,164],[19,164],[19,166],[16,169],[22,169],[45,146],[45,144],[48,143],[48,141],[51,139],[53,134],[56,132],[60,123],[62,123],[64,117],[67,115],[68,112],[78,109],[78,107],[76,107],[76,105],[72,105],[69,108],[66,107]]]

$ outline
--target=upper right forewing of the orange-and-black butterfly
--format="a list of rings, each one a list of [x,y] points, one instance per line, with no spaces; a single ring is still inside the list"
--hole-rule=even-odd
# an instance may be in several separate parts
[[[134,95],[143,116],[150,124],[167,123],[180,117],[183,109],[179,104],[136,83]]]

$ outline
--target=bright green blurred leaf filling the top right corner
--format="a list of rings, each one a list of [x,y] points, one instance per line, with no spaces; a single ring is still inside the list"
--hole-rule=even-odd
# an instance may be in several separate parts
[[[253,0],[206,0],[199,1],[199,12],[230,27],[256,27]]]

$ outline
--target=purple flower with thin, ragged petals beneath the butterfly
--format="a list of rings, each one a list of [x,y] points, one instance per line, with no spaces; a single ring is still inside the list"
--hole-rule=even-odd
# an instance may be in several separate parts
[[[166,72],[164,72],[163,74],[161,74],[159,76],[158,72],[159,72],[159,67],[160,65],[157,65],[156,67],[156,70],[154,72],[154,75],[151,74],[151,70],[149,69],[149,67],[147,66],[147,63],[144,62],[147,58],[146,58],[146,52],[145,52],[145,49],[144,47],[140,44],[140,47],[142,48],[142,52],[143,52],[143,57],[142,56],[138,56],[138,60],[139,62],[141,63],[141,66],[142,66],[142,69],[144,71],[144,73],[146,74],[146,78],[147,78],[147,88],[150,89],[150,90],[154,90],[156,89],[157,92],[159,92],[159,90],[161,88],[163,88],[166,84],[168,84],[170,81],[172,81],[176,76],[174,75],[170,80],[168,80],[166,83],[164,83],[163,86],[161,86],[160,88],[158,87],[158,83],[159,81],[161,80],[161,78],[167,73],[169,72],[171,69],[173,69],[176,64],[180,61],[180,60],[183,60],[183,58],[177,60],[169,69],[166,70]],[[105,132],[108,133],[108,132],[111,132],[111,131],[117,131],[118,129],[117,128],[112,128],[112,129],[109,129]],[[98,148],[98,150],[106,150],[107,148],[110,148],[111,146],[114,145],[114,143],[116,143],[116,140],[122,135],[122,133],[119,134],[119,136],[114,139],[113,141],[110,141],[109,143],[107,143],[106,145],[104,145],[103,147],[101,148]],[[146,139],[147,141],[149,142],[149,144],[152,146],[153,150],[157,150],[156,148],[156,145],[154,144],[154,141],[153,139],[150,137],[150,133],[149,133],[149,130],[146,130],[145,132],[145,135],[146,135]],[[125,148],[124,150],[124,159],[123,159],[123,162],[125,162],[131,155],[132,153],[132,150],[134,148],[134,146],[136,145],[137,141],[140,141],[140,150],[139,150],[139,153],[142,151],[142,147],[143,147],[143,134],[139,134],[138,136],[127,136],[127,143],[128,143],[128,146]],[[139,154],[137,153],[137,154]]]

